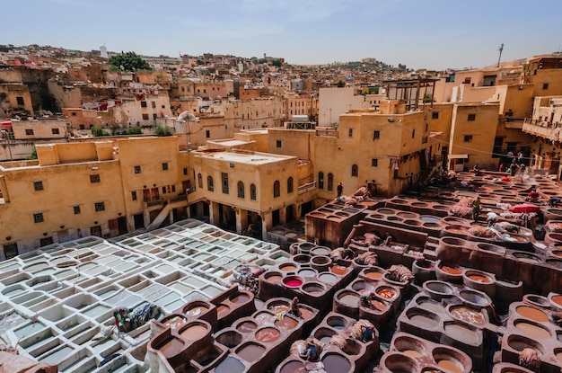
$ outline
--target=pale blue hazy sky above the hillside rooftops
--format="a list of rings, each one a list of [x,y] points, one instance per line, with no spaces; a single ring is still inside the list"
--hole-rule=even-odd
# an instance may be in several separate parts
[[[3,0],[0,44],[484,67],[560,51],[562,1]]]

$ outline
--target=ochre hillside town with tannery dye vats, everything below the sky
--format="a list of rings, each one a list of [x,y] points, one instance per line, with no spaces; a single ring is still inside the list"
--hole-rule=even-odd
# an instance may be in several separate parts
[[[561,126],[561,53],[0,45],[0,367],[558,373]]]

